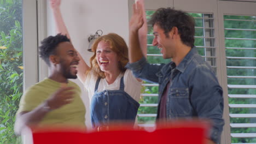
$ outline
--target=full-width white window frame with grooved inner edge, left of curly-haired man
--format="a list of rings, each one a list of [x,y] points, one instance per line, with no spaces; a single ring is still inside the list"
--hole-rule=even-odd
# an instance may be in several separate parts
[[[47,8],[45,0],[22,1],[24,92],[28,87],[48,77],[48,65],[38,55],[40,41],[49,33]]]

